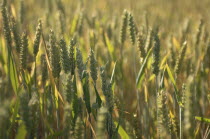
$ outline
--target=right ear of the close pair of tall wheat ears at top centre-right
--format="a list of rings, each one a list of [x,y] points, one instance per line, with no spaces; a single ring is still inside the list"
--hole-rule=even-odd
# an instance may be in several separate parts
[[[131,13],[128,14],[128,27],[130,31],[130,40],[131,40],[131,43],[134,45],[135,39],[136,39],[136,30],[135,30],[133,15]]]

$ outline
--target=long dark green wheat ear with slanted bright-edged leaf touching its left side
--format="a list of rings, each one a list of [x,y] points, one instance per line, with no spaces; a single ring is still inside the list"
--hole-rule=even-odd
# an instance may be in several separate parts
[[[160,40],[157,31],[153,32],[153,38],[154,38],[154,48],[153,48],[152,71],[157,76],[159,73],[159,61],[160,61]]]

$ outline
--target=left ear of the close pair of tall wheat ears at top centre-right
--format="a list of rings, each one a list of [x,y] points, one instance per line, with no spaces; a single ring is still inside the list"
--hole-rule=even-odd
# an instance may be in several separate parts
[[[128,12],[127,10],[123,11],[123,16],[122,16],[122,26],[120,30],[120,43],[123,44],[126,39],[126,30],[127,30],[127,23],[128,22]]]

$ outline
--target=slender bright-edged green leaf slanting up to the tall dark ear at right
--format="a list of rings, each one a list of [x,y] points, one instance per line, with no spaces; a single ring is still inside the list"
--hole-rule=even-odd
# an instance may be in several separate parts
[[[146,68],[146,65],[147,65],[147,62],[148,62],[148,58],[149,58],[149,56],[151,54],[151,51],[152,51],[152,48],[148,51],[147,56],[145,57],[145,59],[143,61],[143,64],[142,64],[142,66],[141,66],[141,68],[139,70],[139,73],[137,75],[137,78],[136,78],[136,85],[137,85],[137,87],[140,86],[139,83],[140,83],[140,80],[142,79],[142,76],[144,74],[144,70]]]

